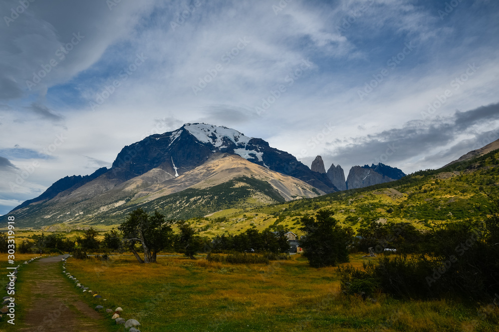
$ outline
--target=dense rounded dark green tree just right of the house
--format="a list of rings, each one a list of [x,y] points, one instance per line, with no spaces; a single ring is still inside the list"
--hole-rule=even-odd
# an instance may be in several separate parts
[[[315,219],[305,215],[300,222],[300,230],[305,232],[301,240],[303,255],[311,267],[335,266],[349,261],[347,246],[352,242],[352,235],[340,227],[330,210],[319,210]]]

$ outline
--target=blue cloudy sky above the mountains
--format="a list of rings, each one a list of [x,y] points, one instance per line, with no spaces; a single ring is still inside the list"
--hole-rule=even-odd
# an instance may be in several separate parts
[[[310,166],[439,168],[499,138],[496,0],[2,0],[0,215],[205,122]]]

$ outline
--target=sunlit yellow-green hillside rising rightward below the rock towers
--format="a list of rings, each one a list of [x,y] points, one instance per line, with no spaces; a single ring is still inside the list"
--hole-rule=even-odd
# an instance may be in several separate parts
[[[354,229],[380,219],[411,222],[420,229],[432,227],[434,222],[480,220],[488,212],[485,192],[499,182],[498,151],[443,169],[419,171],[381,185],[253,209],[232,209],[192,221],[202,233],[211,235],[227,229],[264,229],[279,225],[299,233],[299,218],[323,208],[333,210],[336,219]],[[220,217],[225,219],[222,224],[215,222]]]

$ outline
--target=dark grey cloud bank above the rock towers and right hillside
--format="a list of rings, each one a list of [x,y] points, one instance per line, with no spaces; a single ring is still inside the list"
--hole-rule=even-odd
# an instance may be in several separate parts
[[[499,128],[480,133],[474,132],[472,128],[475,124],[486,124],[496,119],[499,119],[499,104],[465,112],[456,111],[453,116],[436,118],[432,123],[413,120],[406,122],[402,128],[351,138],[349,144],[335,148],[328,159],[332,159],[335,164],[364,165],[382,162],[397,166],[417,158],[418,164],[424,161],[425,164],[443,166],[498,139]],[[475,137],[452,144],[463,133]],[[330,145],[334,146],[333,143]],[[442,152],[432,152],[436,149]]]

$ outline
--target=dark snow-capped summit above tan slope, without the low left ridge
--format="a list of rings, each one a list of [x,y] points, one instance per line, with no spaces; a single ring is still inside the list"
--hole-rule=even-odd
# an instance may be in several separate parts
[[[108,174],[109,179],[129,180],[160,167],[172,176],[205,163],[215,153],[237,154],[266,167],[300,179],[325,193],[337,191],[325,174],[312,172],[291,154],[277,150],[260,138],[248,137],[224,126],[186,123],[181,128],[146,137],[125,146]]]

